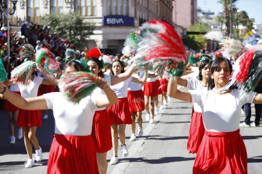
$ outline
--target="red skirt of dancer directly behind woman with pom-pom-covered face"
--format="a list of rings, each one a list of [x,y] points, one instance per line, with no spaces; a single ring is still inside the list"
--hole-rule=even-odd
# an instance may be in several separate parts
[[[95,112],[91,136],[95,143],[96,152],[104,153],[113,147],[110,117],[106,109]]]

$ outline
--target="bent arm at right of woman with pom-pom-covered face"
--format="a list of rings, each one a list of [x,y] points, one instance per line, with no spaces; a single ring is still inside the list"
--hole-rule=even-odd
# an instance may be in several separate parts
[[[101,77],[98,77],[97,79],[98,79],[97,82],[98,87],[104,90],[105,94],[99,94],[96,97],[96,106],[98,108],[103,108],[110,105],[114,105],[118,100],[115,92],[110,89],[105,79]]]

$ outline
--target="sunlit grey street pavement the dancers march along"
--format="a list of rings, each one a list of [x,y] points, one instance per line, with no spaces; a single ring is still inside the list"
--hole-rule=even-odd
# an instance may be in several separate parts
[[[158,106],[160,107],[160,104]],[[254,121],[254,105],[251,105],[251,110],[251,121]],[[129,150],[129,156],[122,157],[119,141],[119,163],[116,165],[108,164],[107,173],[192,173],[195,154],[189,154],[186,149],[191,112],[192,105],[190,103],[171,99],[167,108],[160,110],[159,114],[155,116],[155,123],[148,124],[149,121],[145,121],[145,111],[143,111],[144,135],[139,137],[136,129],[137,140],[130,142],[130,126],[126,126],[126,145]],[[7,114],[4,111],[0,111],[0,174],[46,173],[48,152],[54,135],[54,118],[51,114],[52,111],[49,111],[49,118],[42,120],[42,127],[37,129],[36,136],[43,150],[43,160],[40,163],[36,162],[35,167],[26,169],[24,168],[24,162],[27,160],[27,155],[23,139],[16,139],[15,145],[9,145],[10,133]],[[244,119],[245,116],[241,115],[241,120],[243,121]],[[262,151],[260,150],[262,145],[262,127],[241,127],[240,133],[243,136],[247,149],[248,173],[262,173]],[[15,136],[17,137],[16,128]],[[112,156],[112,150],[108,151],[108,162]]]

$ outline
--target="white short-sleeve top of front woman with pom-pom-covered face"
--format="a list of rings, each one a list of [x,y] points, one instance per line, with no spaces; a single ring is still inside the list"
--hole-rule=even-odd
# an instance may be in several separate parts
[[[97,109],[96,94],[91,93],[78,104],[65,100],[61,92],[44,94],[48,109],[53,110],[54,133],[73,136],[91,135],[93,116]]]

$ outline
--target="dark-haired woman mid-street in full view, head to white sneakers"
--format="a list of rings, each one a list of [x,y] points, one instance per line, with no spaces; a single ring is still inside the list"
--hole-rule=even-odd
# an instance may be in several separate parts
[[[121,60],[114,60],[111,74],[116,76],[123,73],[124,73],[124,63]],[[132,124],[132,118],[130,116],[130,111],[128,106],[129,104],[127,100],[127,87],[130,81],[143,84],[146,82],[146,77],[144,77],[143,79],[130,77],[124,80],[123,82],[110,86],[110,88],[113,91],[115,91],[118,98],[116,104],[108,107],[108,114],[110,115],[110,119],[111,119],[111,133],[112,133],[112,144],[113,144],[113,153],[114,153],[114,156],[110,160],[110,164],[118,163],[118,156],[117,156],[118,135],[122,146],[122,155],[124,157],[128,156],[128,150],[125,145],[125,127],[126,124]]]

